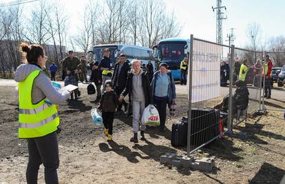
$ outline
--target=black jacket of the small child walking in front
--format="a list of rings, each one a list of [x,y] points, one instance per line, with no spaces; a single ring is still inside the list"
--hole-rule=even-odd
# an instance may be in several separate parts
[[[100,105],[98,107],[102,112],[116,112],[116,105],[118,104],[118,97],[114,90],[104,92],[101,96]]]

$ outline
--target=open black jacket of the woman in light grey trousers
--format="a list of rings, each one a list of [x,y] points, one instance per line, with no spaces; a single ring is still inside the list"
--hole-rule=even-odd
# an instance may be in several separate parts
[[[142,72],[142,71],[140,71],[140,72]],[[128,73],[125,90],[122,92],[123,96],[130,94],[129,97],[131,98],[131,94],[133,91],[133,76],[134,76],[134,74],[132,74],[131,72]],[[150,87],[150,83],[149,83],[149,76],[147,76],[147,72],[142,72],[142,78],[141,79],[142,79],[143,92],[145,94],[145,107],[147,107],[147,105],[149,105],[149,103],[151,101],[151,87]]]

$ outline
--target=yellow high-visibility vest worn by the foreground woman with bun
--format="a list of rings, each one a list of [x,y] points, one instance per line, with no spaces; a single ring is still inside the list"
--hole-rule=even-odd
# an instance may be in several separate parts
[[[19,88],[19,138],[45,136],[57,130],[59,114],[56,105],[32,103],[32,86],[40,70],[31,72],[28,77],[18,83]]]

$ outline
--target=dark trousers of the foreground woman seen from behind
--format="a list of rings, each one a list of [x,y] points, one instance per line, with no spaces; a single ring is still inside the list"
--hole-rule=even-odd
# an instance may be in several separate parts
[[[27,183],[38,183],[39,166],[45,167],[45,183],[59,183],[59,145],[56,132],[28,139],[29,161],[26,171]]]

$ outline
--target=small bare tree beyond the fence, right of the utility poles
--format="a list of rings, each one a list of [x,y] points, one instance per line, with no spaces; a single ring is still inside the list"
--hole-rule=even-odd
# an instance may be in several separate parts
[[[255,52],[255,61],[256,61],[256,51],[260,48],[260,39],[261,39],[261,28],[260,24],[256,22],[248,23],[246,28],[246,35],[249,38],[250,47]]]

